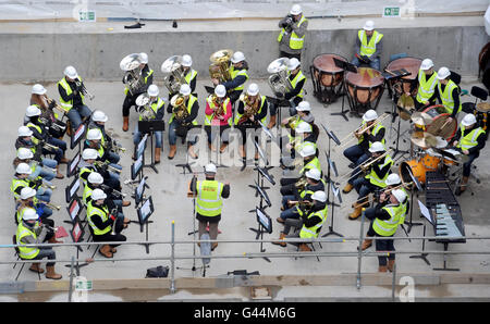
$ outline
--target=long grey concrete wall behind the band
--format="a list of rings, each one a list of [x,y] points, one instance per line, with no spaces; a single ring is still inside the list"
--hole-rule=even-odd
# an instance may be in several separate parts
[[[437,67],[449,66],[464,75],[478,73],[478,53],[489,41],[483,26],[380,28],[384,36],[382,66],[391,54],[431,58]],[[0,34],[1,82],[56,82],[66,65],[94,80],[119,80],[121,59],[146,51],[150,66],[161,79],[161,63],[173,54],[189,53],[200,77],[208,77],[209,55],[230,48],[245,53],[253,77],[267,77],[267,66],[279,52],[277,30],[94,33],[94,34]],[[304,71],[320,53],[352,58],[356,29],[308,30]],[[305,64],[306,62],[306,64]]]

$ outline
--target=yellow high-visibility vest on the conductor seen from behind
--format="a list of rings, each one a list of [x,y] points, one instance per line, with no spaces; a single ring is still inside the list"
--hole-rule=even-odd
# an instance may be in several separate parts
[[[203,216],[218,216],[223,207],[223,184],[217,180],[204,180],[196,183],[197,198],[196,212]]]

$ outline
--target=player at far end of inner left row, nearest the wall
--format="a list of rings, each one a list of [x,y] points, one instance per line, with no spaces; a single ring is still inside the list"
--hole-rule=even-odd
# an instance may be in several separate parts
[[[60,105],[66,112],[72,129],[77,129],[82,119],[88,119],[91,110],[85,104],[86,89],[75,67],[66,66],[64,77],[58,82]]]

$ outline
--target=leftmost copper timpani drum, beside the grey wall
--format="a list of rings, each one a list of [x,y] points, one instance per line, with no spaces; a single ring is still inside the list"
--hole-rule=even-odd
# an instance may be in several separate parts
[[[319,54],[310,66],[314,84],[314,96],[324,103],[334,102],[342,90],[345,71],[335,65],[333,59],[347,62],[347,59],[338,54]]]

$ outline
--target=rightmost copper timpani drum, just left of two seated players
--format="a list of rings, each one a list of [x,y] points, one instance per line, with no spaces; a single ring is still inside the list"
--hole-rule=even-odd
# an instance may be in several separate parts
[[[401,58],[391,61],[388,63],[385,70],[387,71],[399,71],[406,70],[409,75],[402,76],[395,79],[389,79],[388,88],[390,91],[390,97],[394,94],[396,100],[403,94],[411,92],[411,87],[414,83],[417,83],[418,71],[420,70],[421,60],[417,58]],[[412,97],[417,96],[417,89],[414,89],[414,92],[411,92]]]

